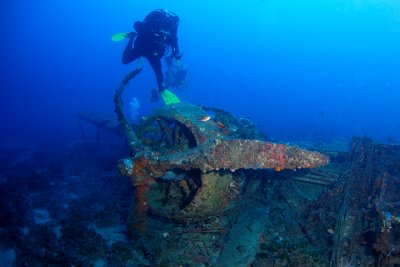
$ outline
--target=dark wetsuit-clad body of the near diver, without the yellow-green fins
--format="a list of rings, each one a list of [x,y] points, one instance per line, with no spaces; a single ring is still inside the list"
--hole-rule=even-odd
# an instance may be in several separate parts
[[[131,34],[122,55],[123,64],[128,64],[139,57],[145,57],[156,74],[159,92],[164,90],[161,58],[169,48],[176,59],[181,57],[178,47],[178,26],[179,18],[175,14],[167,13],[162,9],[152,11],[143,22],[135,23],[137,34]]]

